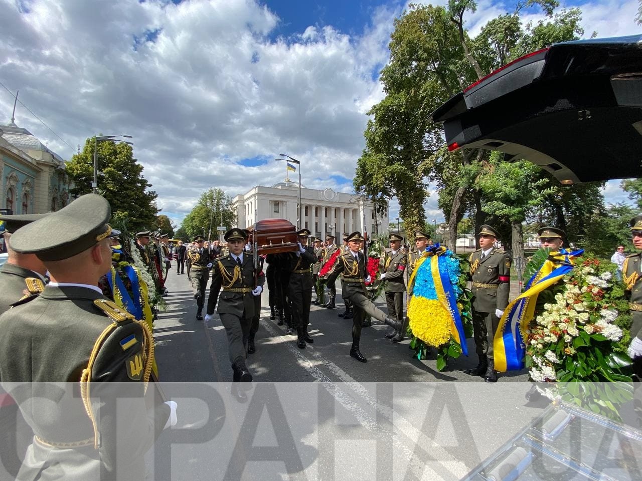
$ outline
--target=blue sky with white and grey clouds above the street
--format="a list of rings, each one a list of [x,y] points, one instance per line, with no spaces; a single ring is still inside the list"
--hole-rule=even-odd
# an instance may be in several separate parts
[[[440,3],[445,3],[442,0]],[[475,35],[514,3],[478,0]],[[639,33],[638,0],[572,0],[586,36]],[[164,214],[179,223],[204,190],[231,196],[283,180],[349,192],[366,112],[381,101],[397,0],[0,0],[0,80],[16,122],[63,158],[93,135],[128,133]],[[100,15],[96,12],[100,11]],[[524,21],[541,13],[526,12]],[[13,97],[0,91],[0,123]],[[58,137],[59,136],[59,137]],[[60,139],[63,139],[64,142]],[[626,201],[618,181],[608,201]],[[390,217],[398,204],[390,202]],[[442,219],[437,192],[426,217]]]

